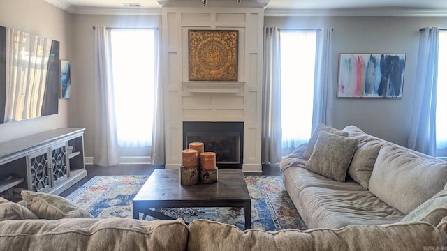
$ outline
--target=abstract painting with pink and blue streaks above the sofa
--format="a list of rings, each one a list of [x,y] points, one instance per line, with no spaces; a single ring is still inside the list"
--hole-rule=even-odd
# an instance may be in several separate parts
[[[340,54],[337,98],[402,98],[406,54]]]

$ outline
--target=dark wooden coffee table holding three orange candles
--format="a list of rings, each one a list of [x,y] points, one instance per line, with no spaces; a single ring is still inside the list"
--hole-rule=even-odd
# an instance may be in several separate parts
[[[140,213],[161,220],[174,218],[154,208],[244,208],[245,229],[251,228],[251,198],[242,169],[219,169],[217,183],[180,185],[179,170],[155,169],[132,201],[133,218]]]

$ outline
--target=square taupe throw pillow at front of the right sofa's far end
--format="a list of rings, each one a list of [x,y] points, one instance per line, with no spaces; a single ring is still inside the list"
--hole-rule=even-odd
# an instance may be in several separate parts
[[[305,169],[344,182],[357,144],[357,139],[321,131]]]

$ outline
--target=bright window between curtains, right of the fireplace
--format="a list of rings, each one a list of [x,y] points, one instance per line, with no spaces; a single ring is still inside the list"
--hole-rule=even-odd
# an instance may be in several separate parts
[[[282,148],[312,133],[316,31],[280,31]]]

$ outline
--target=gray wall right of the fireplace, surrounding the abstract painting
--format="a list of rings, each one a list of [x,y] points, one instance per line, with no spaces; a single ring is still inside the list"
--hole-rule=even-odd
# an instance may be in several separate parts
[[[332,77],[337,85],[339,53],[406,54],[401,99],[335,99],[335,127],[356,125],[365,132],[406,146],[416,84],[419,29],[447,27],[446,17],[265,17],[265,26],[331,27]],[[336,89],[336,88],[335,88]],[[336,93],[332,94],[334,97]]]

